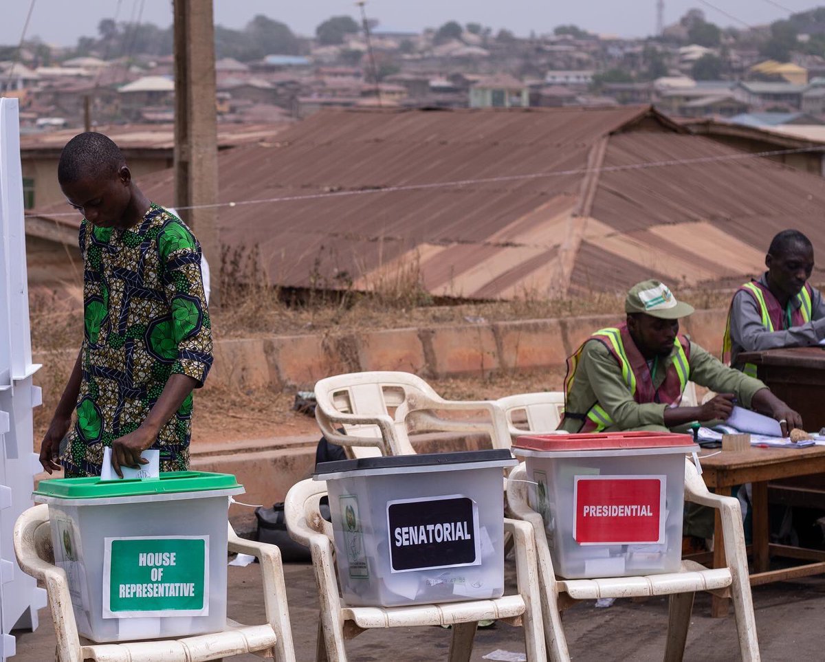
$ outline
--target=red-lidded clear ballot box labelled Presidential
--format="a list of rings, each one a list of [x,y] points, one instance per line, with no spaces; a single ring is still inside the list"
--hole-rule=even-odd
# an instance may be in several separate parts
[[[557,575],[677,572],[686,434],[627,432],[518,437],[530,506],[544,518]]]

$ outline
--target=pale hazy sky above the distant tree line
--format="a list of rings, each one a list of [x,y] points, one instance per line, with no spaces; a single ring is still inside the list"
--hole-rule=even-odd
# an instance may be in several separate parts
[[[31,0],[30,0],[31,2]],[[356,16],[352,0],[213,0],[215,22],[241,27],[257,13],[284,21],[299,34],[314,33],[324,19],[338,15]],[[775,21],[794,12],[816,6],[805,0],[709,0],[728,14],[748,24]],[[80,35],[94,35],[102,18],[129,21],[143,3],[143,20],[167,26],[172,21],[171,0],[35,0],[28,35],[38,35],[57,45],[74,44]],[[825,4],[825,1],[823,1]],[[703,5],[700,0],[665,0],[665,22],[671,23],[691,7],[699,7],[709,21],[721,26],[737,22]],[[5,0],[0,7],[0,44],[20,40],[29,2]],[[506,27],[516,35],[552,31],[554,26],[575,23],[602,34],[643,36],[656,24],[656,0],[368,0],[367,13],[385,28],[421,30],[455,19],[476,21],[494,30]],[[739,25],[741,27],[741,25]]]

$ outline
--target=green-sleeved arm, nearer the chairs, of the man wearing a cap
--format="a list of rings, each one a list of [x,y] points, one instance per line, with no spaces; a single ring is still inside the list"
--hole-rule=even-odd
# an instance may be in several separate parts
[[[579,369],[586,371],[596,400],[618,428],[627,430],[643,425],[665,424],[663,414],[667,404],[636,402],[625,384],[619,364],[599,341],[592,340],[584,346]]]

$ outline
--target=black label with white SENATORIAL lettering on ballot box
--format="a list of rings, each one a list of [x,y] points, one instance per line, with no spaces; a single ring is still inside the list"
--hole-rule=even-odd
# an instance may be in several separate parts
[[[392,572],[481,563],[479,509],[460,494],[387,504]]]

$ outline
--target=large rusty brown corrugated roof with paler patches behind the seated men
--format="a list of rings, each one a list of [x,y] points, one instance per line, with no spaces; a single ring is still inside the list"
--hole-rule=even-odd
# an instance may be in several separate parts
[[[168,205],[172,180],[140,183]],[[224,203],[297,198],[219,214],[223,243],[291,287],[368,290],[411,269],[471,299],[699,286],[756,275],[780,229],[825,250],[822,177],[648,107],[321,111],[221,153],[219,180]]]

